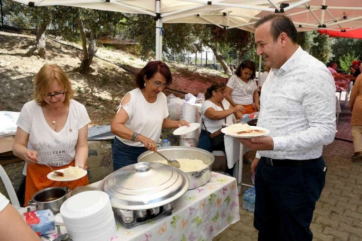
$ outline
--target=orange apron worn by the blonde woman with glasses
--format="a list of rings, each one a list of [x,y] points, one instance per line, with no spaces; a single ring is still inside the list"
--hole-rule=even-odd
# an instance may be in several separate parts
[[[53,170],[59,170],[67,168],[69,166],[74,167],[75,160],[65,166],[52,167]],[[25,202],[24,206],[27,206],[27,202],[31,200],[32,196],[43,190],[50,187],[70,187],[72,190],[75,187],[86,186],[89,184],[88,175],[82,177],[81,179],[71,181],[71,182],[59,182],[49,180],[46,175],[51,172],[50,168],[45,165],[40,164],[28,164],[26,168],[26,182],[25,182]]]

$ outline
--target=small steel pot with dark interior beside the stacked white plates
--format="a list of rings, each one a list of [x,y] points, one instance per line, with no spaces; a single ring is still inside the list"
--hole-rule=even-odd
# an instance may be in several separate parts
[[[57,214],[70,191],[69,187],[46,188],[34,194],[28,205],[36,206],[36,210],[50,209],[53,214]]]

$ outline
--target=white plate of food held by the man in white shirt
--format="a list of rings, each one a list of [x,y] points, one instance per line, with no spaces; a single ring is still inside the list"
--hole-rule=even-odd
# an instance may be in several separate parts
[[[233,124],[228,127],[222,128],[221,132],[225,135],[245,139],[262,137],[270,134],[270,131],[268,129],[258,126],[249,126],[248,124],[242,123]]]

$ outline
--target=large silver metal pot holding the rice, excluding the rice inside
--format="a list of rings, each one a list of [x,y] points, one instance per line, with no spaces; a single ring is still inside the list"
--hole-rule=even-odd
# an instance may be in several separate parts
[[[162,147],[157,149],[170,159],[199,159],[202,160],[207,167],[202,170],[195,172],[187,172],[186,175],[190,180],[190,186],[188,190],[198,188],[205,185],[211,179],[212,164],[215,160],[214,156],[200,148],[196,147],[185,147],[185,146],[171,146]],[[154,155],[153,152],[145,152],[138,157],[138,162],[154,162],[161,160],[159,155]]]

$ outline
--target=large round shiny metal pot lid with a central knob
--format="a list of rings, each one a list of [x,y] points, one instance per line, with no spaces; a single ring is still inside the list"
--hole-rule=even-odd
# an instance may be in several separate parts
[[[98,190],[108,194],[114,208],[143,210],[171,203],[188,187],[187,175],[179,169],[162,163],[140,162],[110,174]]]

